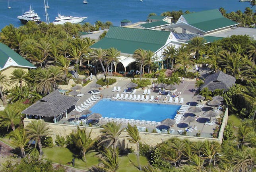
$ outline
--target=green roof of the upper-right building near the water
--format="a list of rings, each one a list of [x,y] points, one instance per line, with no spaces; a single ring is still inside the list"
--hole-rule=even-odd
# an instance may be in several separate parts
[[[218,9],[200,11],[197,13],[188,13],[184,14],[183,17],[186,19],[189,25],[204,32],[239,24],[223,17]]]

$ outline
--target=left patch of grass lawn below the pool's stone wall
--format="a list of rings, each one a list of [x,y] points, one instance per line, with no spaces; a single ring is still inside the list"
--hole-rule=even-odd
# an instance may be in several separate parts
[[[75,157],[73,153],[66,147],[46,147],[43,148],[44,159],[50,159],[52,162],[57,162],[60,164],[68,165],[68,162],[72,162],[72,159],[75,158],[75,167],[81,169],[88,169],[93,165],[99,163],[99,159],[95,156],[97,153],[90,151],[85,155],[86,163],[81,159]],[[72,166],[72,164],[70,164]]]

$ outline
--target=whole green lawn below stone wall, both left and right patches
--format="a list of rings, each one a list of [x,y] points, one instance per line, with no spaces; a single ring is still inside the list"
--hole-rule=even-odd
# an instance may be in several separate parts
[[[68,162],[71,162],[74,158],[74,154],[67,148],[63,147],[46,147],[43,148],[44,159],[50,159],[52,162],[57,162],[60,164],[68,165]],[[97,152],[90,151],[86,155],[86,163],[81,159],[75,157],[76,168],[88,169],[91,166],[99,164],[99,159],[97,158]],[[119,162],[119,172],[137,172],[139,171],[137,166],[137,157],[136,155],[129,154],[128,156],[120,156],[118,159]],[[148,161],[145,157],[140,156],[140,163],[142,166],[146,166]],[[70,165],[72,166],[72,164]]]

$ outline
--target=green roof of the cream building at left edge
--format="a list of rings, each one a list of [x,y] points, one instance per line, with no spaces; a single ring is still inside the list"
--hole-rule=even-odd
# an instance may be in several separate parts
[[[34,65],[29,63],[29,61],[17,54],[14,50],[5,44],[0,43],[0,69],[4,67],[9,57],[11,57],[19,66],[36,68]]]

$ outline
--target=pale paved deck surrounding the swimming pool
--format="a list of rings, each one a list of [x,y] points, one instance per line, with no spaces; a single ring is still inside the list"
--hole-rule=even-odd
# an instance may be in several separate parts
[[[111,100],[114,100],[113,97],[115,97],[117,93],[122,94],[123,90],[125,88],[127,89],[126,85],[131,82],[131,79],[132,78],[121,78],[120,77],[120,78],[117,79],[117,82],[114,85],[109,86],[109,88],[105,88],[105,89],[102,89],[102,90],[97,89],[97,90],[101,91],[101,94],[103,95],[103,97],[108,97],[108,98],[111,97]],[[91,88],[91,86],[93,84],[95,84],[96,81],[97,80],[94,77],[92,82],[90,82],[85,87],[83,87],[82,90],[80,90],[80,93],[82,93],[84,95],[82,97],[80,97],[77,105],[80,105],[81,103],[83,103],[83,101],[85,101],[90,96],[92,96],[91,95],[91,90],[93,90],[93,88]],[[190,104],[191,106],[197,104],[197,102],[192,99],[192,96],[194,96],[195,91],[196,91],[195,90],[195,86],[194,86],[195,82],[196,82],[196,80],[194,80],[194,79],[186,79],[185,78],[184,83],[180,83],[179,85],[175,85],[175,87],[177,89],[176,94],[178,94],[178,92],[181,92],[181,96],[180,97],[184,98],[183,104],[186,104],[186,105]],[[116,88],[118,86],[121,86],[120,92],[112,92],[112,89],[113,89],[114,86],[116,86]],[[148,88],[146,88],[146,89],[148,89]],[[150,89],[151,89],[150,96],[153,95],[155,97],[155,96],[158,95],[158,91],[153,91],[152,88],[150,88]],[[143,92],[144,92],[144,90],[142,90],[141,88],[136,90],[136,94],[137,95],[139,95],[139,94],[142,95]],[[99,95],[96,95],[96,96],[99,96]],[[150,96],[149,96],[149,98],[150,98]],[[148,103],[163,103],[164,97],[165,96],[162,95],[162,99],[159,102],[153,101],[153,102],[148,102]],[[114,101],[119,101],[119,100],[114,100]],[[130,100],[122,100],[122,101],[130,101]],[[143,101],[143,102],[145,103],[146,101]],[[206,103],[206,101],[203,101],[202,103]],[[202,103],[199,103],[199,104],[202,104]],[[165,104],[171,104],[171,103],[165,103]],[[213,108],[209,107],[207,105],[204,105],[204,107],[202,108],[202,112],[196,113],[196,115],[200,114],[200,117],[202,117],[202,118],[199,118],[200,120],[194,121],[194,122],[190,122],[190,124],[189,124],[189,122],[185,122],[184,120],[182,120],[179,124],[175,124],[170,129],[175,129],[175,133],[174,134],[178,134],[177,130],[182,130],[182,129],[186,128],[188,126],[188,124],[189,124],[189,126],[197,126],[197,130],[195,130],[193,132],[187,133],[187,136],[196,136],[196,133],[198,133],[200,131],[201,132],[201,137],[212,138],[211,133],[213,133],[213,131],[214,131],[213,129],[215,128],[215,126],[217,124],[214,124],[213,126],[206,126],[205,122],[206,122],[206,120],[209,120],[209,118],[204,117],[202,115],[202,113],[204,113],[205,111],[209,111],[211,109],[213,109]],[[188,113],[189,113],[189,111],[187,111],[184,115],[185,116],[189,115]],[[219,112],[219,115],[220,115],[220,113],[221,113],[221,111]],[[81,117],[81,116],[78,116],[78,118],[79,117]],[[103,115],[103,117],[104,117],[104,115]],[[74,116],[70,116],[68,114],[68,118],[62,118],[62,120],[60,120],[58,123],[62,124],[63,122],[65,122],[65,124],[70,124],[69,120],[71,120],[72,118],[74,119]],[[213,119],[214,118],[211,118],[211,120],[213,120]],[[105,121],[100,121],[98,126],[100,126],[100,125],[102,125],[104,123],[106,123],[106,122]],[[85,124],[83,124],[83,125],[85,125]],[[122,126],[123,127],[127,127],[127,124],[122,123]],[[139,125],[137,124],[137,126],[139,126]],[[140,126],[145,126],[149,132],[151,132],[154,128],[157,127],[157,126],[148,126],[148,125],[140,125]],[[165,126],[158,126],[157,128],[162,129],[164,127]]]

